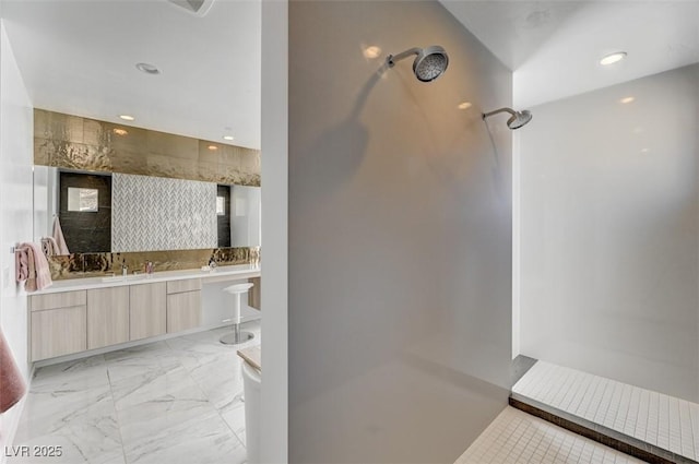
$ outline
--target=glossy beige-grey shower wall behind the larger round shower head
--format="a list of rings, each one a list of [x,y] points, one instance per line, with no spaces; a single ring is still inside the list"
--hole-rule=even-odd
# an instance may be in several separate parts
[[[293,0],[288,56],[289,461],[453,463],[509,391],[511,73],[438,2]]]

